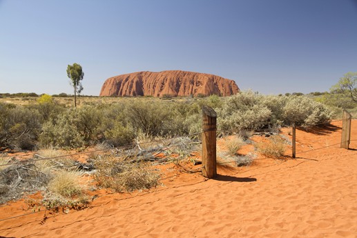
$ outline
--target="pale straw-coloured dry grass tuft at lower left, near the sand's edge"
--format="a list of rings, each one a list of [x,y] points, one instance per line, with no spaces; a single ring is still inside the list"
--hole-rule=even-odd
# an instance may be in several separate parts
[[[59,171],[48,183],[48,190],[62,197],[76,197],[83,193],[83,187],[78,183],[76,171]]]

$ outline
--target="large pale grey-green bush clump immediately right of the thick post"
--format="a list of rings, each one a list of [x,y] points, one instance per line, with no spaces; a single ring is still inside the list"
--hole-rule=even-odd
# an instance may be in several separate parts
[[[263,96],[249,90],[226,99],[218,109],[218,126],[228,133],[273,130],[293,122],[298,126],[315,126],[327,123],[331,116],[326,106],[305,96]]]

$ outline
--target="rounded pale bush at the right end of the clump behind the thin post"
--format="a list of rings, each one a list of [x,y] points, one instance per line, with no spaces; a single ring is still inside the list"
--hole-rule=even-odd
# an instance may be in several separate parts
[[[290,97],[284,108],[284,123],[296,123],[299,126],[316,126],[327,123],[331,119],[331,112],[322,103],[307,97]]]

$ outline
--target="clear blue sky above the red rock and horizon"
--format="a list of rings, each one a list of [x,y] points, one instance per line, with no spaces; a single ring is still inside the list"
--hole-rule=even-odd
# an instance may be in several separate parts
[[[325,91],[357,71],[356,0],[0,0],[0,92],[84,95],[108,77],[187,70],[263,94]]]

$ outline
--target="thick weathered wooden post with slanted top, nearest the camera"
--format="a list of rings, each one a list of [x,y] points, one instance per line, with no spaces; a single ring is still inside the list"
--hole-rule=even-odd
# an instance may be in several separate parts
[[[202,106],[202,175],[209,179],[217,176],[215,137],[217,113],[209,106]]]

